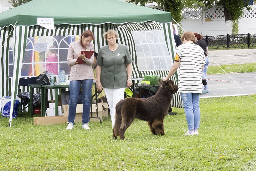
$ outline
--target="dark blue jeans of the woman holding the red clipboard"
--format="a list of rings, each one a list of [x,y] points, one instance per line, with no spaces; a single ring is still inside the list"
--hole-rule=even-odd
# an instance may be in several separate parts
[[[68,106],[68,122],[75,125],[76,104],[79,97],[79,92],[82,84],[82,101],[83,101],[83,115],[82,125],[88,124],[90,119],[91,108],[91,91],[93,79],[70,81],[70,97]]]

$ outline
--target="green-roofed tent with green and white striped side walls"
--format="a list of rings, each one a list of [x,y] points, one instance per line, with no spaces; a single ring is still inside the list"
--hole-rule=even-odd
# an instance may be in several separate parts
[[[54,29],[38,25],[38,18],[53,18]],[[101,46],[107,44],[107,41],[102,37],[104,32],[109,29],[115,29],[118,32],[118,43],[127,45],[132,54],[133,77],[138,78],[144,75],[163,77],[167,75],[176,49],[172,32],[172,17],[169,12],[118,0],[33,0],[0,14],[0,95],[12,96],[11,106],[14,105],[25,47],[29,37],[81,35],[82,32],[88,29],[95,35],[95,41],[93,41],[95,52],[98,52]],[[142,39],[140,36],[148,37],[148,42],[138,42]],[[159,43],[161,37],[164,43]],[[10,68],[8,68],[10,67],[8,60],[10,39],[14,39],[13,76],[10,76]],[[158,47],[160,47],[153,50],[152,53],[163,53],[162,49],[167,49],[168,52],[168,54],[164,54],[165,58],[161,58],[161,54],[159,55],[156,60],[158,62],[155,61],[158,67],[155,67],[154,63],[147,64],[148,68],[151,66],[153,69],[148,69],[145,66],[140,67],[141,55],[144,55],[144,53],[141,53],[139,47],[149,44],[158,44]],[[150,50],[152,49],[148,51]],[[170,62],[168,62],[166,56],[168,56]],[[154,61],[152,59],[151,57],[151,62]],[[145,56],[143,60],[146,60],[146,63],[148,62]],[[167,65],[168,67],[165,66],[165,69],[163,69],[161,65]],[[178,84],[177,75],[174,75],[171,79]],[[171,106],[182,107],[178,93],[173,96]],[[10,117],[9,126],[11,126],[11,123],[12,117]]]

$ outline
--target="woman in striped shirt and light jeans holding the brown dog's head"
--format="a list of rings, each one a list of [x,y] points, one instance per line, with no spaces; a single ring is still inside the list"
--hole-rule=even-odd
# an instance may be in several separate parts
[[[182,45],[177,48],[167,81],[179,68],[179,92],[188,123],[185,135],[198,135],[200,123],[199,97],[202,93],[202,69],[206,63],[203,49],[194,44],[195,35],[187,31],[181,36]]]

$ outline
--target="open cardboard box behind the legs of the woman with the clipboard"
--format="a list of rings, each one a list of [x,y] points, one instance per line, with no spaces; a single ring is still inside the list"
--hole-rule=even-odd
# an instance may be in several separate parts
[[[68,104],[67,105],[63,105],[63,116],[67,116],[68,117]],[[101,121],[102,121],[102,103],[98,103],[98,117],[100,117]],[[75,118],[75,122],[82,122],[82,115],[83,115],[83,104],[77,104],[76,105],[76,118]],[[92,116],[96,117],[96,104],[92,104]],[[91,117],[91,110],[90,110],[90,117]],[[90,122],[91,121],[97,121],[99,122],[100,119],[98,118],[90,118]]]

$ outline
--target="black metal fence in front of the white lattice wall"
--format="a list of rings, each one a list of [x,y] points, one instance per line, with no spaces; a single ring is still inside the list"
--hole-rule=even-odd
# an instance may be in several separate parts
[[[256,46],[256,34],[227,34],[220,36],[205,36],[209,49],[250,48]]]

